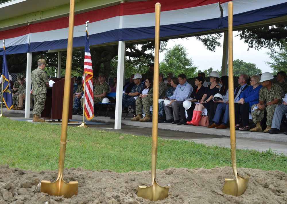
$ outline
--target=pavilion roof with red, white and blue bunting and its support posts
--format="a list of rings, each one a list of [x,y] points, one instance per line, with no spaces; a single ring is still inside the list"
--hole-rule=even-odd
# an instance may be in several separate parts
[[[160,2],[161,39],[224,32],[222,73],[227,67],[227,3],[230,0],[107,1],[75,0],[74,49],[84,49],[85,22],[90,47],[119,45],[118,83],[123,84],[125,44],[154,38],[154,6]],[[287,0],[234,0],[234,30],[287,21]],[[37,6],[35,6],[37,5]],[[32,52],[67,49],[69,0],[13,0],[0,4],[0,40],[6,54],[27,53],[26,100],[30,100]],[[2,50],[0,49],[2,54]],[[58,71],[58,73],[60,73]],[[59,75],[58,75],[59,77]],[[115,129],[121,129],[122,86],[117,86]],[[25,117],[29,117],[26,103]]]

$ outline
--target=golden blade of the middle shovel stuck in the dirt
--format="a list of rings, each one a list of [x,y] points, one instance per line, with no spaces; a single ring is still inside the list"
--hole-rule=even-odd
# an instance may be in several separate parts
[[[170,186],[162,187],[158,185],[156,181],[154,181],[151,186],[139,186],[137,196],[149,199],[151,201],[163,200],[168,197],[169,189]]]

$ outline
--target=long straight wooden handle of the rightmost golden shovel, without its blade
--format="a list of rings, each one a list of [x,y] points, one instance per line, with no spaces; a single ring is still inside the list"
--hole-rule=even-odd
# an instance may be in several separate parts
[[[234,84],[233,84],[233,2],[228,3],[228,89],[229,101],[234,101]],[[229,126],[230,126],[230,143],[235,143],[235,116],[234,103],[229,103]]]

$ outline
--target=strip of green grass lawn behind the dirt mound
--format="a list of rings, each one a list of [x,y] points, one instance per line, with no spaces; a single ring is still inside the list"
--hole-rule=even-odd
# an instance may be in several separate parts
[[[0,118],[0,164],[42,171],[59,165],[60,125],[28,123]],[[151,169],[152,138],[119,132],[68,127],[65,167],[110,169],[116,172]],[[265,152],[236,150],[237,167],[287,172],[287,157]],[[232,166],[231,151],[193,141],[158,139],[157,169]]]

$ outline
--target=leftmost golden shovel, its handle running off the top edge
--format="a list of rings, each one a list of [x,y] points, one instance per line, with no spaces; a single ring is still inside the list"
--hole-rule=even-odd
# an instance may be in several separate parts
[[[66,144],[67,144],[67,127],[69,116],[69,97],[71,86],[71,65],[72,65],[72,50],[73,50],[73,27],[74,27],[74,10],[75,0],[70,0],[70,19],[69,19],[69,35],[68,35],[68,49],[67,49],[67,62],[64,86],[64,102],[63,102],[63,119],[61,129],[60,141],[60,156],[59,156],[59,171],[58,178],[55,182],[42,180],[40,192],[48,193],[49,195],[64,196],[65,198],[72,197],[78,193],[77,181],[70,181],[66,183],[63,180]]]

